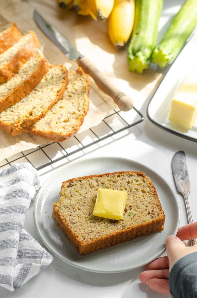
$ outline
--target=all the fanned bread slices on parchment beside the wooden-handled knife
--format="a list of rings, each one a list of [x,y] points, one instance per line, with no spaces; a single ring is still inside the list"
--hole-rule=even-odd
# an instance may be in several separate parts
[[[80,128],[89,109],[89,80],[81,68],[48,65],[36,53],[35,32],[0,26],[0,129],[62,142]]]

